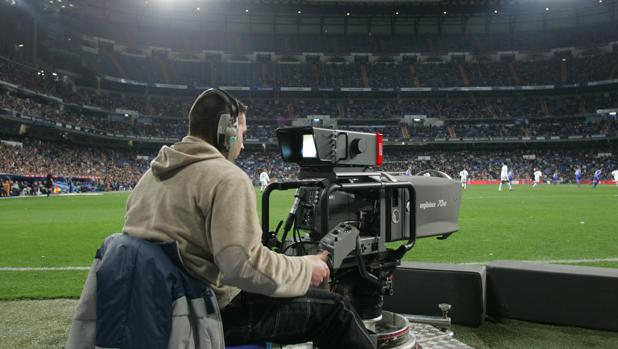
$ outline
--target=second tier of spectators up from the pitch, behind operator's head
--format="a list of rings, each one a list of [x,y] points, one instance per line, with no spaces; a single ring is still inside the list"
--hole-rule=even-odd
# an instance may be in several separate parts
[[[616,100],[617,94],[608,96],[586,96],[585,101],[592,101],[596,108],[610,106]],[[577,115],[581,110],[582,99],[579,97],[563,97],[557,99],[419,99],[419,100],[264,100],[250,99],[249,117],[251,119],[247,139],[268,140],[274,137],[274,130],[290,124],[290,119],[302,115],[343,115],[341,120],[359,119],[357,129],[367,132],[381,132],[393,141],[408,139],[432,138],[473,138],[473,137],[550,137],[550,136],[588,136],[616,134],[616,121],[589,121],[585,117],[545,118],[543,111],[551,115]],[[163,99],[157,99],[159,101]],[[170,98],[174,101],[174,98]],[[607,103],[603,103],[607,100]],[[183,100],[190,105],[189,100]],[[530,106],[535,103],[535,110]],[[589,102],[588,102],[589,103]],[[173,103],[168,103],[173,105]],[[180,103],[179,109],[182,109]],[[33,97],[0,95],[0,108],[8,111],[36,117],[50,124],[62,123],[79,127],[82,131],[92,131],[100,134],[112,133],[119,135],[135,135],[142,137],[162,137],[179,139],[187,132],[186,118],[180,117],[134,117],[131,115],[92,111],[87,108],[70,104],[62,104],[53,100],[36,100]],[[324,109],[321,109],[324,108]],[[473,111],[478,111],[478,114]],[[508,110],[508,111],[507,111]],[[519,114],[518,110],[523,113]],[[498,111],[506,117],[496,122],[494,117]],[[586,111],[586,110],[584,110]],[[292,115],[286,117],[284,115]],[[412,124],[402,126],[387,122],[389,119],[401,120],[406,114],[426,114],[445,120],[443,126],[423,126]],[[530,114],[526,114],[530,112]],[[573,114],[559,114],[571,112]],[[272,114],[271,114],[272,113]],[[464,120],[451,118],[456,115]],[[473,116],[476,115],[476,116]],[[355,117],[353,117],[355,116]],[[469,117],[469,119],[466,119]],[[376,122],[377,119],[377,122]],[[362,121],[366,120],[366,121]],[[380,120],[384,120],[383,122]],[[354,128],[342,124],[339,128]],[[365,124],[366,126],[363,126]],[[382,124],[382,126],[380,126]],[[373,126],[369,126],[373,125]],[[359,128],[361,126],[361,128]]]

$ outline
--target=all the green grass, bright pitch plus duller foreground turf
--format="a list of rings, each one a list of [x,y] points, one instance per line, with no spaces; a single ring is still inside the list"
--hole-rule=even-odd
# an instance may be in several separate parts
[[[0,347],[61,348],[87,268],[102,240],[122,228],[126,193],[0,200]],[[260,194],[256,191],[258,207]],[[271,198],[271,227],[292,192]],[[618,267],[618,188],[545,185],[470,186],[460,231],[444,241],[421,239],[407,260],[486,263],[543,260]],[[31,301],[16,301],[34,299]],[[606,331],[494,319],[479,328],[454,326],[479,349],[618,348]]]

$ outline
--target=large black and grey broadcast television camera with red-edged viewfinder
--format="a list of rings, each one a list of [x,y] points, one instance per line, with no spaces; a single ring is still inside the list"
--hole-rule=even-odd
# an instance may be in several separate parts
[[[264,191],[264,245],[288,255],[327,250],[328,287],[348,297],[364,320],[379,318],[383,297],[393,293],[393,272],[416,239],[444,239],[459,229],[460,184],[439,171],[372,170],[383,162],[379,133],[291,127],[278,129],[277,138],[283,160],[300,165],[300,180]],[[280,234],[283,221],[269,228],[270,194],[289,189],[296,194]],[[387,245],[394,242],[397,248]]]

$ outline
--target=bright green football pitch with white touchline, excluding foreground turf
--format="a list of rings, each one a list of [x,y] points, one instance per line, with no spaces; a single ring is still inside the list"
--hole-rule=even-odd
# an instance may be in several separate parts
[[[292,191],[271,197],[271,227]],[[260,193],[256,191],[258,209]],[[0,200],[0,299],[78,297],[101,241],[122,228],[126,193]],[[469,186],[460,230],[421,239],[406,260],[543,260],[618,267],[618,188]],[[239,215],[239,219],[241,216]]]

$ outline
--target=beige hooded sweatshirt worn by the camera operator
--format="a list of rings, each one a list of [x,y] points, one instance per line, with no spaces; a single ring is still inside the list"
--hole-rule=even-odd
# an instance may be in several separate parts
[[[212,145],[185,137],[164,146],[127,201],[123,231],[178,241],[185,266],[225,307],[239,288],[273,297],[304,295],[311,266],[261,243],[251,180]]]

